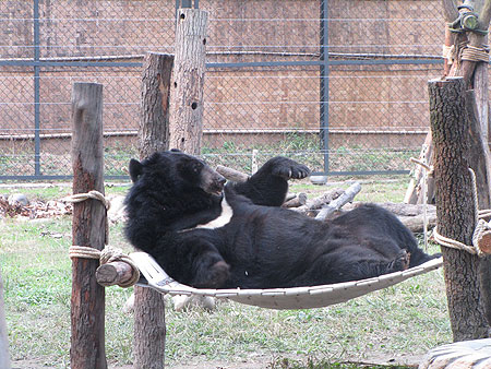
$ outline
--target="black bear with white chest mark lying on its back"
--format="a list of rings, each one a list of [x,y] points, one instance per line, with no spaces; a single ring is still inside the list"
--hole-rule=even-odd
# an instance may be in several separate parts
[[[247,182],[225,184],[203,160],[177,150],[132,159],[125,235],[176,281],[208,288],[357,281],[434,258],[375,205],[330,222],[280,207],[288,179],[309,174],[278,156]]]

